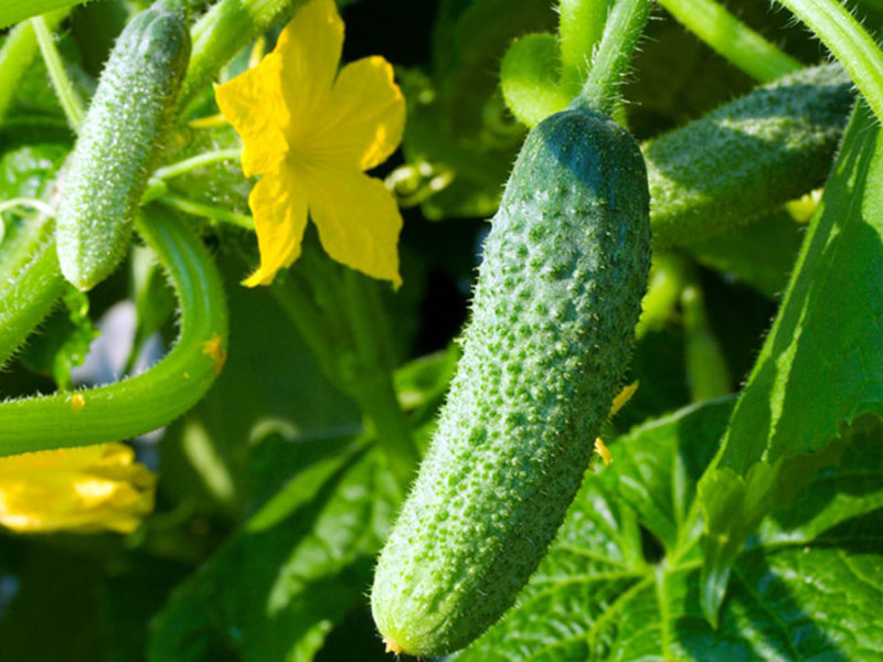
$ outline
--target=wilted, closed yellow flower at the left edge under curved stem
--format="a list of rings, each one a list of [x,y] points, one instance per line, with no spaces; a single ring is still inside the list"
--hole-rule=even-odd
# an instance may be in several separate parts
[[[153,509],[155,483],[123,444],[0,458],[0,524],[19,533],[128,533]]]

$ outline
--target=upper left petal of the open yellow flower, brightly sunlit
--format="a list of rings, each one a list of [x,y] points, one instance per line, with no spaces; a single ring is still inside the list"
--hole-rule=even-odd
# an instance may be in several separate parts
[[[281,93],[281,56],[272,53],[214,88],[217,107],[242,137],[245,177],[272,172],[288,153],[283,131],[290,115]]]

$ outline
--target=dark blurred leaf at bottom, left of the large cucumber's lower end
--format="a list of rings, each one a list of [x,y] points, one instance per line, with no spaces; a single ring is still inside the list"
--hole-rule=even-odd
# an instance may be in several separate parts
[[[149,659],[311,660],[370,584],[395,490],[377,450],[312,463],[174,591]]]

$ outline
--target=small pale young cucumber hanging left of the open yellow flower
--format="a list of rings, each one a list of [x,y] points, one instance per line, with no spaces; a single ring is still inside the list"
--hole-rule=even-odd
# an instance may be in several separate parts
[[[58,204],[58,263],[81,290],[104,280],[126,253],[189,58],[183,18],[160,7],[135,17],[110,53]]]

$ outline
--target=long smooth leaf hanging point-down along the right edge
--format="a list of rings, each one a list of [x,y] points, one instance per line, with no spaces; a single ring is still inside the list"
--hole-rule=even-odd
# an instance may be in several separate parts
[[[706,516],[703,606],[757,523],[819,467],[864,413],[883,415],[883,143],[861,105],[847,129],[773,330],[700,493]]]

